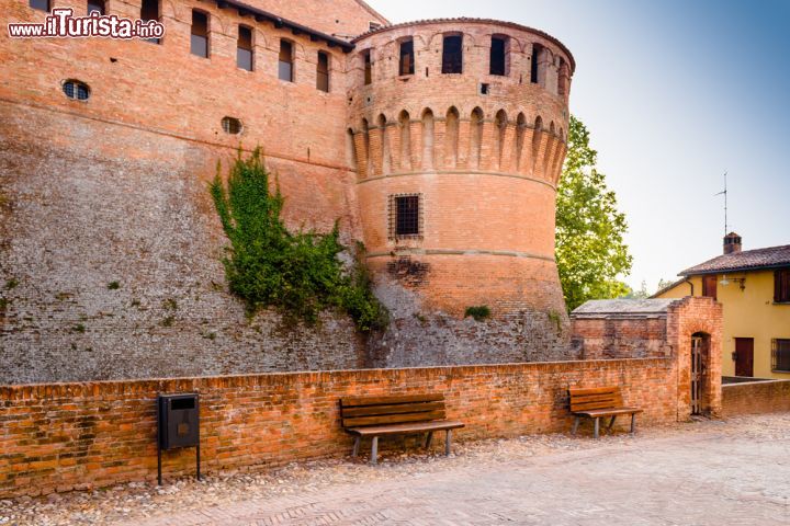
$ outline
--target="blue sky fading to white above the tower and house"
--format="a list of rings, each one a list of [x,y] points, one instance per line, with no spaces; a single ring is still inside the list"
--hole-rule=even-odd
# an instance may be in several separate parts
[[[478,16],[557,37],[577,62],[571,111],[630,231],[634,288],[722,250],[790,244],[789,0],[369,0],[392,22]]]

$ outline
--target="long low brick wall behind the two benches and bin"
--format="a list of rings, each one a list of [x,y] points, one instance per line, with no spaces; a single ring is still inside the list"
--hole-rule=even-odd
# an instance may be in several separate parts
[[[676,375],[645,358],[0,387],[0,498],[154,480],[159,392],[200,392],[203,470],[221,472],[347,455],[343,396],[444,392],[473,439],[568,430],[572,386],[622,386],[641,423],[672,422]],[[193,451],[166,453],[166,477]]]

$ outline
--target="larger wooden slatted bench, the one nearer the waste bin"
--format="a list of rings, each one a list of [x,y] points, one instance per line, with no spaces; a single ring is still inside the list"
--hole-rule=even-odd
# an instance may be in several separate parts
[[[426,433],[425,447],[428,448],[433,432],[445,431],[444,454],[450,455],[452,430],[464,426],[462,422],[445,420],[443,395],[343,398],[340,418],[343,430],[354,435],[352,456],[359,454],[363,437],[373,438],[371,464],[376,464],[380,436]]]

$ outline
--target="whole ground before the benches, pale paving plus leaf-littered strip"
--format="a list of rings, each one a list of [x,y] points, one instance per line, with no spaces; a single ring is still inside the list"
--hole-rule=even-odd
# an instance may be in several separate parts
[[[40,506],[35,518],[10,524],[790,524],[786,413],[650,428],[633,438],[532,436],[456,451],[449,459],[391,455],[379,467],[294,465],[160,490],[124,485],[114,496],[82,499],[77,513],[80,500],[69,494],[44,510],[27,502]]]

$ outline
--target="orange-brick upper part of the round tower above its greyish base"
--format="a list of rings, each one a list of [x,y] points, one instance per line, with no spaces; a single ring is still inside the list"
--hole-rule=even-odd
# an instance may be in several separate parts
[[[554,216],[571,53],[540,31],[471,19],[398,24],[356,45],[349,146],[377,281],[426,310],[564,318]]]

